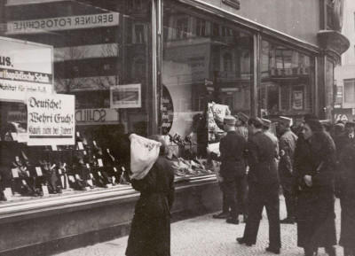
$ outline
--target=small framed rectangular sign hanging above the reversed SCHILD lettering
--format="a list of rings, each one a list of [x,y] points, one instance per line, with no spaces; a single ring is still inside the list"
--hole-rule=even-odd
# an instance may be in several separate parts
[[[115,85],[110,89],[111,108],[141,107],[141,86],[137,84]]]

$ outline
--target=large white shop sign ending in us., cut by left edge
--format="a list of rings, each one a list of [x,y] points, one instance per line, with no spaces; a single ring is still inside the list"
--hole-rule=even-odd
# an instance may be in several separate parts
[[[23,102],[27,93],[50,94],[53,48],[0,37],[0,101]]]

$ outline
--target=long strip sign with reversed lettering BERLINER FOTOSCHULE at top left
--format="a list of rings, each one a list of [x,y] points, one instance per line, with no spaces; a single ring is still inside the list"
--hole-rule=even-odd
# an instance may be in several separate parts
[[[30,34],[53,30],[118,26],[118,13],[56,17],[50,19],[14,20],[7,23],[7,35]]]

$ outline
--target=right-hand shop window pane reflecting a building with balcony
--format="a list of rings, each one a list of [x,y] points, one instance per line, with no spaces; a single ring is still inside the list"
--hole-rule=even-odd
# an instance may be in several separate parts
[[[260,63],[263,116],[298,116],[311,112],[314,64],[310,56],[262,41]]]

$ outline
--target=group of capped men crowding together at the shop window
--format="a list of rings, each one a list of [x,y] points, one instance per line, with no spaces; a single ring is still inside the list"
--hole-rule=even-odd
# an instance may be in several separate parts
[[[248,119],[242,113],[225,117],[226,135],[220,140],[220,156],[210,154],[212,159],[221,161],[223,192],[223,212],[213,217],[238,224],[239,214],[243,214],[246,227],[244,236],[237,241],[251,246],[256,244],[265,206],[270,229],[266,251],[279,254],[280,223],[295,222],[292,164],[297,136],[290,129],[292,120],[287,117],[278,121],[279,139],[270,132],[271,124],[271,120]],[[288,213],[284,220],[280,220],[280,185]]]

